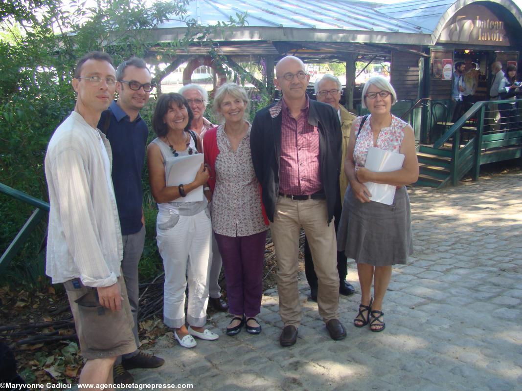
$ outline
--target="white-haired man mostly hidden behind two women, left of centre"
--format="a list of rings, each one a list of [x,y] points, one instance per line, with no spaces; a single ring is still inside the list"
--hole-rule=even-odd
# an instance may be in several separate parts
[[[205,118],[205,109],[208,104],[208,93],[201,85],[187,84],[179,91],[188,101],[188,105],[192,109],[194,118],[191,123],[191,129],[199,135],[199,139],[203,144],[203,137],[207,130],[212,129],[215,125]],[[219,254],[218,243],[212,235],[212,266],[210,268],[209,279],[209,299],[208,303],[216,311],[226,312],[228,304],[221,299],[221,287],[219,286],[219,275],[221,274],[221,255]]]

